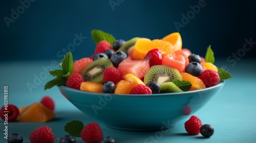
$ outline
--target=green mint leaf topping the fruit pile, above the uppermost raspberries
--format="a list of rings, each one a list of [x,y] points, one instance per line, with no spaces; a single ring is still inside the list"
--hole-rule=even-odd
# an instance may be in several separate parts
[[[101,30],[92,30],[91,34],[92,34],[92,39],[94,40],[94,42],[96,44],[102,40],[106,40],[110,44],[113,44],[116,41],[116,39],[113,35],[111,35],[109,33],[105,33]]]

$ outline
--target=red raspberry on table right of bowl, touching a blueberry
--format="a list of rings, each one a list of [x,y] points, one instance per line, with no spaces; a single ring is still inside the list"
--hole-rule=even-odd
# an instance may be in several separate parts
[[[202,122],[197,116],[191,116],[188,121],[185,122],[185,129],[187,133],[197,135],[200,133]]]

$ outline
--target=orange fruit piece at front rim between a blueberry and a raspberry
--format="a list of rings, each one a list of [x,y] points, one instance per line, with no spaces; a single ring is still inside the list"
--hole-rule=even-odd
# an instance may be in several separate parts
[[[132,83],[131,81],[120,80],[116,84],[114,94],[130,94],[131,90],[136,85],[137,85],[136,83]]]

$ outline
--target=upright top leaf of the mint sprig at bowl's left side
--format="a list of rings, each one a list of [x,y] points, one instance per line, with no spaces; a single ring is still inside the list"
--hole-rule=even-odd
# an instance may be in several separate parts
[[[72,53],[68,52],[63,60],[62,60],[62,69],[64,71],[66,71],[66,73],[72,73],[73,72],[73,57],[72,57]]]

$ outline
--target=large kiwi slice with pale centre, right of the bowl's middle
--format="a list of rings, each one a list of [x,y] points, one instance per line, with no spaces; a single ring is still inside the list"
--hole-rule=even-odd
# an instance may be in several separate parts
[[[178,69],[168,65],[154,65],[146,72],[144,83],[156,81],[158,84],[171,82],[173,80],[182,80]]]

